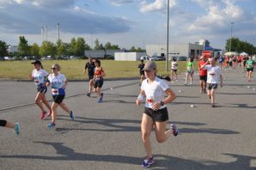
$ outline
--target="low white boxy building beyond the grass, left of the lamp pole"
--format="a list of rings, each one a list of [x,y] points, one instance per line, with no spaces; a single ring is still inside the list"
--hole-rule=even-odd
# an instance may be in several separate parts
[[[138,61],[142,56],[145,56],[146,52],[115,52],[115,61]]]

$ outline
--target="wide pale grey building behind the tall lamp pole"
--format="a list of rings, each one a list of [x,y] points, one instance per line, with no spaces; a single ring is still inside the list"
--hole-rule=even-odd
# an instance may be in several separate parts
[[[192,43],[186,44],[169,44],[169,58],[173,56],[186,56],[186,57],[199,57],[201,52],[204,51],[204,46]],[[166,57],[166,45],[148,45],[146,52],[149,56],[162,56]]]

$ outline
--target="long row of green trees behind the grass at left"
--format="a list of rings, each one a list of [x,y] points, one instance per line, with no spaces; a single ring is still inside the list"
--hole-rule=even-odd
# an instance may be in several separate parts
[[[46,57],[52,56],[53,58],[59,58],[64,56],[84,56],[85,50],[92,50],[91,46],[88,46],[87,42],[82,38],[72,38],[70,43],[64,43],[62,40],[58,40],[56,44],[50,41],[43,41],[41,46],[34,43],[31,46],[28,45],[27,39],[24,36],[20,36],[18,52],[9,53],[8,45],[0,40],[0,57],[11,56],[11,57]],[[118,45],[112,45],[107,42],[104,46],[100,43],[99,39],[94,41],[94,50],[120,50]],[[143,52],[142,48],[135,48],[134,46],[130,49],[131,52]]]

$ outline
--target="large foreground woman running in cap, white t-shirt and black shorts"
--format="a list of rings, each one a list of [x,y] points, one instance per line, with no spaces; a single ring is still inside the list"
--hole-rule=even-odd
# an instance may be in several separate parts
[[[156,64],[154,62],[148,61],[145,64],[146,80],[143,81],[140,94],[137,97],[137,106],[139,106],[143,101],[143,96],[146,96],[141,131],[147,156],[143,161],[142,167],[150,167],[155,162],[149,140],[153,127],[155,127],[155,137],[158,143],[164,143],[172,134],[175,137],[179,134],[175,124],[170,124],[170,129],[166,131],[166,125],[168,124],[166,104],[172,102],[176,96],[166,82],[155,76],[156,71]],[[166,98],[164,98],[165,94],[168,95]]]

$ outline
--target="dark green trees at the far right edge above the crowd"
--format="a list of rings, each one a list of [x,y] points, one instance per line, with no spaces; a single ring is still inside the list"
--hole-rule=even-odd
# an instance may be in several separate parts
[[[230,49],[230,43],[231,43],[231,49]],[[233,37],[232,39],[227,39],[226,46],[225,46],[226,52],[247,52],[249,55],[253,55],[256,52],[256,47],[253,46],[253,44],[248,43],[247,41],[242,41],[238,38]]]

